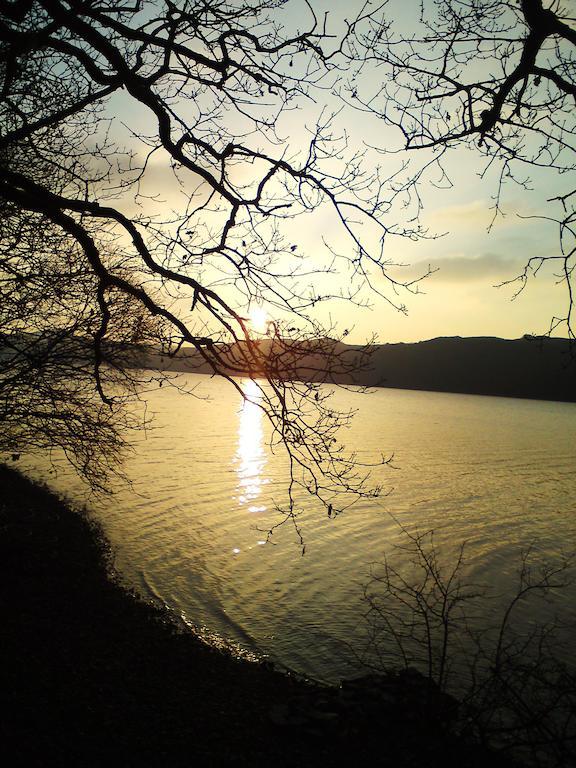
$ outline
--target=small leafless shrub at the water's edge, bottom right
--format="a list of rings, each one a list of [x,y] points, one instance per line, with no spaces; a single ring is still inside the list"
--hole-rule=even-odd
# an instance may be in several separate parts
[[[550,600],[573,581],[574,556],[538,561],[521,553],[517,581],[496,610],[487,587],[465,576],[465,545],[443,562],[432,531],[408,531],[365,585],[368,628],[362,662],[389,674],[422,670],[433,687],[420,693],[447,708],[434,716],[463,736],[510,754],[522,765],[571,765],[576,739],[576,676],[567,658],[568,624],[530,621],[518,608]],[[534,609],[537,615],[536,607]],[[480,617],[482,619],[480,620]],[[563,632],[559,631],[560,629]],[[440,694],[459,699],[444,700]]]

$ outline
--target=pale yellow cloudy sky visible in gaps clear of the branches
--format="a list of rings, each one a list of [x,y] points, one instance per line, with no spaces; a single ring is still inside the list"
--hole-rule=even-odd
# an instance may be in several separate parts
[[[294,9],[296,6],[292,3],[287,7]],[[350,6],[341,2],[314,3],[318,13],[323,6],[330,8],[336,17],[350,13]],[[392,3],[390,11],[395,23],[409,28],[415,7],[415,2]],[[297,25],[298,18],[292,13],[287,20]],[[336,20],[334,23],[337,26]],[[377,88],[380,76],[377,70],[368,70],[361,87],[367,91]],[[333,97],[324,94],[324,98],[330,109],[341,106]],[[287,115],[280,128],[289,137],[290,147],[305,145],[304,126],[311,124],[324,106],[317,100]],[[125,111],[121,101],[113,101],[111,110],[119,121],[135,119],[134,113]],[[375,163],[385,166],[389,162],[398,162],[398,157],[382,159],[368,148],[398,141],[398,136],[381,120],[347,107],[336,118],[335,130],[347,133],[350,149],[364,153],[368,167]],[[551,318],[562,311],[562,288],[548,266],[516,297],[518,283],[497,287],[519,275],[529,258],[556,251],[556,226],[536,218],[525,218],[538,216],[543,212],[543,201],[562,191],[556,188],[555,177],[542,171],[533,175],[531,190],[514,185],[505,187],[504,215],[491,226],[496,179],[489,176],[481,179],[480,160],[466,149],[455,151],[447,167],[453,181],[450,188],[438,189],[424,183],[420,190],[424,204],[421,223],[428,228],[430,238],[412,242],[392,237],[387,240],[384,252],[392,265],[404,265],[389,267],[390,274],[398,279],[414,278],[425,274],[429,268],[433,274],[418,284],[416,293],[398,295],[390,292],[385,279],[373,276],[376,289],[405,305],[405,312],[394,309],[375,293],[367,296],[370,304],[367,308],[355,308],[344,302],[322,306],[317,311],[318,318],[328,326],[337,324],[341,331],[346,329],[349,332],[347,341],[362,343],[374,335],[380,342],[413,342],[437,336],[519,338],[525,333],[546,332]],[[149,212],[156,213],[158,206],[165,206],[165,210],[177,209],[181,204],[174,177],[161,158],[151,163],[147,185],[147,191],[158,195],[156,201],[145,204]],[[401,223],[402,215],[401,211],[391,211],[391,223]],[[344,233],[338,231],[337,223],[328,213],[302,217],[290,226],[297,234],[299,249],[309,254],[311,263],[323,239],[329,240],[335,249],[346,247]],[[349,279],[344,270],[330,280],[337,289],[338,284],[346,285]],[[326,280],[319,276],[318,282],[324,284]]]

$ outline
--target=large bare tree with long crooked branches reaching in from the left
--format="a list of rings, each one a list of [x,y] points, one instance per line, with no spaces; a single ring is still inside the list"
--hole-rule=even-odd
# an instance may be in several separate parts
[[[304,148],[279,138],[290,110],[333,85],[362,15],[335,39],[310,4],[293,31],[281,6],[0,3],[2,450],[62,447],[102,486],[138,378],[119,354],[160,341],[170,355],[189,345],[239,391],[234,374],[265,377],[258,403],[290,461],[288,519],[297,485],[334,512],[339,493],[373,492],[335,437],[349,415],[290,372],[323,337],[319,302],[364,302],[370,271],[394,305],[413,284],[386,271],[383,187],[330,117]],[[287,227],[315,213],[339,229],[338,253],[307,256]],[[248,322],[259,303],[275,314],[268,340]],[[330,369],[334,342],[314,354]]]

